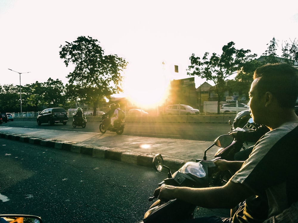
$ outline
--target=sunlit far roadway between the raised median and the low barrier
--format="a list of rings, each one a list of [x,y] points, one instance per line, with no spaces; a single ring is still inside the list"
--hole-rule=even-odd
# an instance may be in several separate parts
[[[62,123],[49,126],[47,124],[37,125],[36,120],[25,121],[15,119],[13,122],[3,123],[3,126],[25,127],[36,129],[54,129],[62,131],[80,131],[90,133],[100,133],[100,122],[87,122],[86,128],[72,127],[69,121],[66,125]],[[1,127],[1,126],[0,126]],[[122,135],[145,136],[155,138],[188,139],[214,141],[218,136],[227,134],[230,131],[229,124],[213,123],[125,123]],[[105,134],[116,134],[107,131]]]

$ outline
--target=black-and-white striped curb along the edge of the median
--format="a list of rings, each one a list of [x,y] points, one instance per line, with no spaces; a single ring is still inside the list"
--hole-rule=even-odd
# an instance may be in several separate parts
[[[23,136],[18,134],[0,133],[1,138],[12,139],[20,142],[27,142],[34,145],[41,145],[45,147],[55,148],[59,150],[70,151],[74,153],[81,153],[93,157],[105,158],[115,161],[121,161],[129,164],[135,164],[144,167],[153,167],[152,160],[155,154],[153,153],[138,153],[130,150],[121,150],[109,147],[94,147],[92,145],[85,145],[75,142],[60,141],[36,138],[31,136]],[[172,171],[178,170],[187,161],[170,158],[163,155],[164,165],[170,167]]]

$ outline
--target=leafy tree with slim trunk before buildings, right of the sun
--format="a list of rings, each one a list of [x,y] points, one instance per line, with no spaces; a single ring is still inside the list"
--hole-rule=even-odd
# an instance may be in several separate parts
[[[215,92],[218,95],[218,114],[220,109],[220,101],[227,90],[225,80],[241,70],[243,65],[251,61],[256,54],[249,54],[250,50],[236,49],[234,42],[229,42],[222,48],[222,54],[215,53],[208,59],[209,53],[206,52],[201,60],[192,54],[190,57],[191,65],[188,66],[187,74],[191,76],[199,76],[205,78],[207,81],[213,81],[215,84]]]

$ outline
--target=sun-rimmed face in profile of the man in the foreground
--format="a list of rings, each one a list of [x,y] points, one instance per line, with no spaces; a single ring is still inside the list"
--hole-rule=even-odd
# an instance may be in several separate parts
[[[264,97],[259,95],[257,92],[257,83],[259,78],[254,79],[249,91],[249,110],[254,122],[259,124],[264,123]]]

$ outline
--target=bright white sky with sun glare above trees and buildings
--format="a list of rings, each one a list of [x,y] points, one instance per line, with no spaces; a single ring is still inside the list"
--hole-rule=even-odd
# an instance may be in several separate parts
[[[161,98],[169,80],[190,77],[192,53],[221,54],[233,41],[260,56],[275,37],[280,55],[283,40],[298,38],[297,27],[297,0],[0,0],[0,84],[20,84],[8,68],[24,73],[21,85],[48,78],[68,83],[72,70],[59,46],[90,36],[105,54],[129,62],[122,95],[149,102]],[[196,87],[204,81],[195,78]]]

